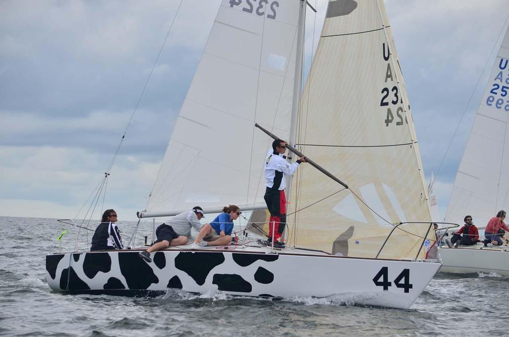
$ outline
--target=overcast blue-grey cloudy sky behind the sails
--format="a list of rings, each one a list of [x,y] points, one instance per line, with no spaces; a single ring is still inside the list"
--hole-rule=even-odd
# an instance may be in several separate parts
[[[184,0],[120,155],[106,205],[143,210],[220,0]],[[306,64],[326,0],[310,0]],[[74,217],[101,180],[180,1],[0,1],[0,215]],[[509,6],[386,0],[427,179],[441,215]],[[485,65],[488,70],[476,88]]]

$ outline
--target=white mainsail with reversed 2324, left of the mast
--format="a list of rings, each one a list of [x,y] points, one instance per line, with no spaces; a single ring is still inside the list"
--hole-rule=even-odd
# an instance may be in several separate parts
[[[223,0],[147,211],[264,205],[270,139],[288,138],[298,1]]]

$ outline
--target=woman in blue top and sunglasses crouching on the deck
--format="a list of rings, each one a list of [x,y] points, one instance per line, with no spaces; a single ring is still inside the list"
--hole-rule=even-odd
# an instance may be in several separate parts
[[[235,205],[224,206],[222,211],[212,222],[204,224],[194,240],[193,247],[224,246],[232,242],[233,220],[242,212]]]

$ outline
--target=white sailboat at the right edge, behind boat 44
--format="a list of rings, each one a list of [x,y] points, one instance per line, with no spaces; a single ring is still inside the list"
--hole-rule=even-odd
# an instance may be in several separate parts
[[[445,221],[460,222],[471,215],[479,230],[499,210],[509,208],[509,28],[498,50],[475,114],[465,152],[458,167]],[[480,225],[480,226],[479,226]],[[480,239],[484,235],[480,232]],[[509,276],[509,247],[440,248],[441,272],[486,272]]]

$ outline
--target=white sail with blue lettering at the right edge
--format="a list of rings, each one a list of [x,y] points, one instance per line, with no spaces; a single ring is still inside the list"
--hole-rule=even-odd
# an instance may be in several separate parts
[[[448,222],[471,215],[484,226],[497,211],[509,208],[509,29],[498,50],[460,162]]]

